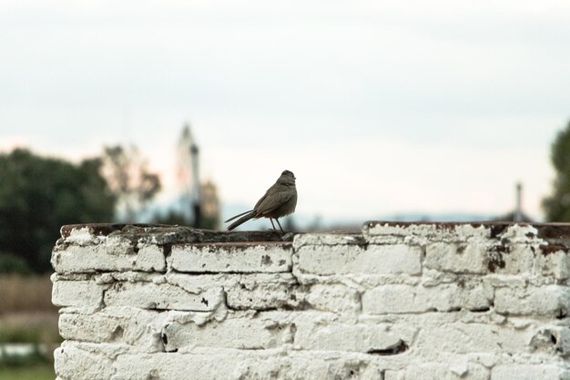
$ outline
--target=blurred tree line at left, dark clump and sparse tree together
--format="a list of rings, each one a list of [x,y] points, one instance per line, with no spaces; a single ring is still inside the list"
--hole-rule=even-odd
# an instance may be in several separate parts
[[[0,273],[50,272],[62,225],[135,221],[158,190],[134,147],[77,164],[28,149],[0,154]]]

